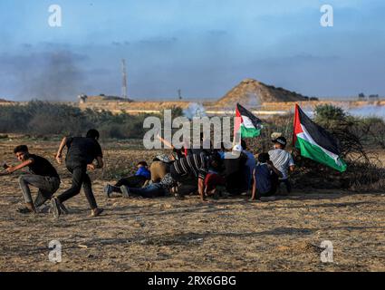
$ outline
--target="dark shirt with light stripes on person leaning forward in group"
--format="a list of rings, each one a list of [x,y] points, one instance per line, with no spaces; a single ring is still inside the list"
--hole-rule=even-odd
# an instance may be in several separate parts
[[[198,179],[205,179],[208,172],[207,155],[205,152],[188,154],[187,157],[176,160],[170,171],[174,179],[191,173]]]

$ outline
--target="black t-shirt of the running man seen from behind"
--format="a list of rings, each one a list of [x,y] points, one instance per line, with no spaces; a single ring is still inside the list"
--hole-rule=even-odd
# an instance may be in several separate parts
[[[101,145],[93,138],[69,137],[65,145],[68,147],[67,162],[91,164],[97,157],[103,157]]]

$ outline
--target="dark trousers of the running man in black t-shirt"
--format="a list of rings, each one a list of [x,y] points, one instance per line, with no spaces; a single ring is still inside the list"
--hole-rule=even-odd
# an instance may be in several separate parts
[[[87,174],[87,164],[70,162],[67,163],[67,169],[72,173],[72,187],[58,196],[58,200],[64,202],[65,200],[78,195],[81,192],[81,189],[83,189],[85,197],[90,204],[90,208],[98,208],[92,193],[91,179]]]

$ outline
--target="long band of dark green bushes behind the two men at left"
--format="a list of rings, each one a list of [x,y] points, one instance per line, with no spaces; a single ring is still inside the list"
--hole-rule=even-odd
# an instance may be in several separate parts
[[[3,106],[0,110],[0,132],[34,136],[81,135],[91,128],[106,139],[140,139],[148,115],[126,112],[85,111],[71,105],[33,101],[26,105]]]

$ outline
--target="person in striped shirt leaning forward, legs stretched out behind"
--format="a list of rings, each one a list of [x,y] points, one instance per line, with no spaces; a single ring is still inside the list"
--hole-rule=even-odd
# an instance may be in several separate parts
[[[139,195],[145,198],[155,198],[167,195],[168,191],[178,187],[178,183],[182,182],[184,178],[191,175],[197,179],[198,194],[202,201],[205,201],[205,185],[204,180],[207,176],[209,164],[213,160],[220,160],[217,155],[207,155],[201,152],[199,155],[189,154],[187,157],[174,161],[169,169],[169,172],[164,176],[159,183],[152,183],[143,189],[133,189],[122,186],[120,189],[125,198],[132,195]],[[176,198],[181,198],[175,193]]]

